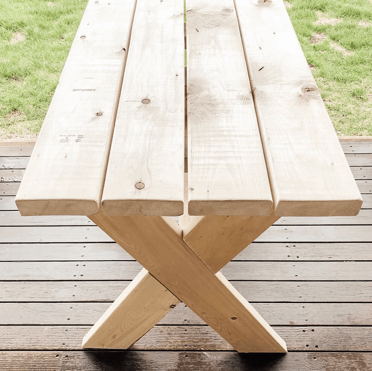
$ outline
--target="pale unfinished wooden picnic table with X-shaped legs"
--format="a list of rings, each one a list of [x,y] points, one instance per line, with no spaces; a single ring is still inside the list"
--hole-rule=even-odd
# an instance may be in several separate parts
[[[186,43],[183,7],[89,0],[16,204],[86,215],[144,266],[83,347],[182,300],[239,352],[286,352],[220,269],[281,216],[362,198],[283,1],[187,0]]]

